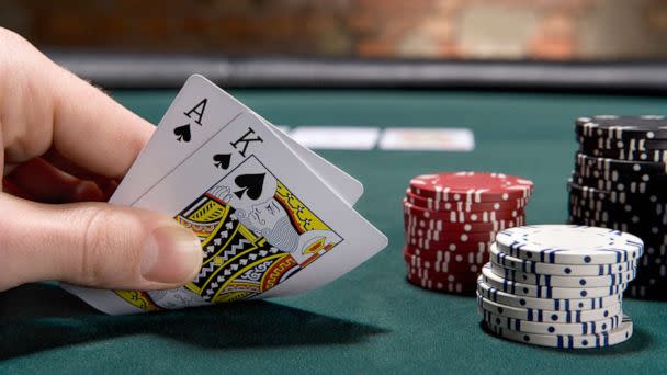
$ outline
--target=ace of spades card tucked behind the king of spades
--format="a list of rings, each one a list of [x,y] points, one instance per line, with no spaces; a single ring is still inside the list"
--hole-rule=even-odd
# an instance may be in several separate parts
[[[202,76],[191,76],[160,121],[154,136],[116,189],[110,203],[132,205],[174,166],[193,155],[221,127],[250,111]],[[261,118],[267,124],[265,120]],[[343,201],[354,205],[362,184],[303,147],[285,133],[270,126],[304,163],[316,171]]]

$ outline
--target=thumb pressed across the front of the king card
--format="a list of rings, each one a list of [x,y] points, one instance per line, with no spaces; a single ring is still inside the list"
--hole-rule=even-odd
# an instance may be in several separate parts
[[[0,193],[0,291],[42,280],[156,289],[194,279],[202,250],[192,231],[155,212]]]

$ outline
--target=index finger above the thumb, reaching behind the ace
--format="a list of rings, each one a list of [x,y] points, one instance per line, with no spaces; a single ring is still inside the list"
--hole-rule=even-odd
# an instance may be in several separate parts
[[[0,29],[0,118],[5,162],[55,149],[108,178],[129,169],[155,127]],[[3,94],[2,94],[3,93]]]

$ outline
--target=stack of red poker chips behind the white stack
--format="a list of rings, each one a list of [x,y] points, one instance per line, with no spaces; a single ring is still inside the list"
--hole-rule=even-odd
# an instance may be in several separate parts
[[[471,294],[496,232],[525,224],[530,180],[451,172],[410,180],[403,201],[407,279],[423,288]]]

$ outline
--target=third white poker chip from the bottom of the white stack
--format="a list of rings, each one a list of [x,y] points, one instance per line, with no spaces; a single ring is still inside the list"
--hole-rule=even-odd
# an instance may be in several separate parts
[[[478,308],[501,317],[525,321],[561,323],[587,322],[607,319],[623,311],[620,303],[595,310],[555,311],[501,305],[484,298],[479,292],[476,292],[476,295]]]

